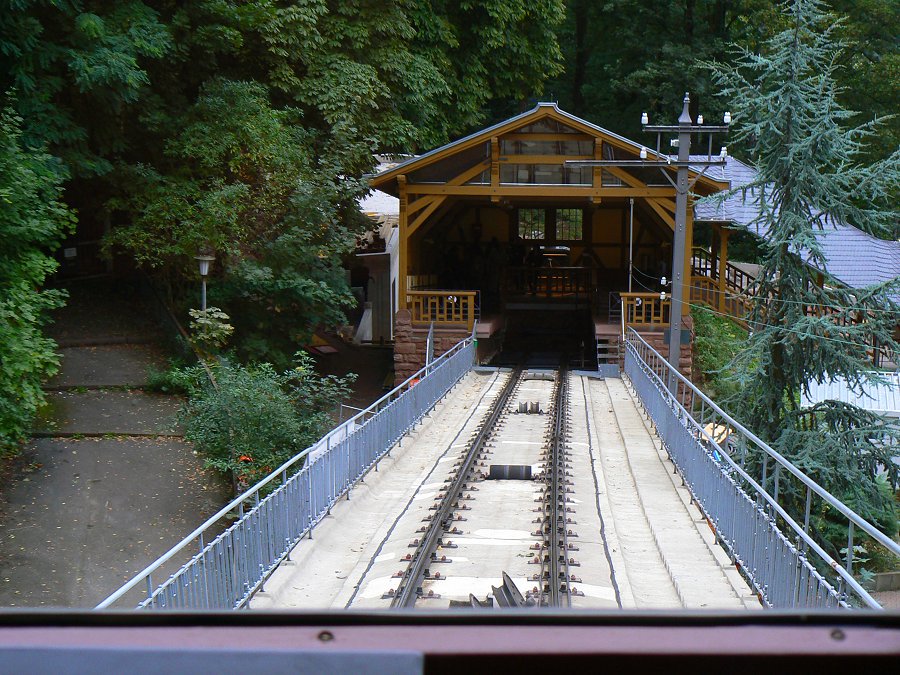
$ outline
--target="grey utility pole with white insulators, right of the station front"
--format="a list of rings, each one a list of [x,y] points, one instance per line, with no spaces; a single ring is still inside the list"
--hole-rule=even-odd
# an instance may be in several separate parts
[[[716,133],[726,133],[731,123],[731,113],[725,113],[723,126],[711,126],[703,124],[703,117],[697,117],[697,124],[691,119],[689,111],[691,98],[685,92],[684,108],[678,118],[678,124],[674,126],[650,126],[650,118],[647,113],[641,115],[641,126],[644,131],[656,133],[656,157],[648,158],[647,148],[642,147],[639,159],[600,159],[600,160],[569,160],[566,164],[578,166],[615,166],[627,167],[657,167],[666,180],[675,188],[675,242],[672,247],[672,310],[669,321],[669,363],[672,370],[669,371],[666,386],[672,393],[677,389],[675,371],[678,369],[678,359],[681,356],[681,308],[684,299],[685,287],[685,247],[687,245],[687,202],[688,193],[694,183],[703,175],[710,166],[724,166],[726,163],[726,150],[722,148],[719,155],[712,154],[712,137]],[[678,159],[673,161],[670,157],[660,154],[662,134],[678,134]],[[706,157],[697,157],[691,160],[691,135],[706,134],[708,138],[708,151]],[[673,142],[675,145],[675,142]],[[694,178],[689,180],[690,168],[704,167]],[[676,169],[675,180],[669,175],[669,170]],[[630,280],[629,280],[630,281]]]

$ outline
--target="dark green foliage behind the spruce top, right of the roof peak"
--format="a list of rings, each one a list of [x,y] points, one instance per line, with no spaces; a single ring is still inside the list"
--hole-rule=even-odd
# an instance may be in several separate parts
[[[835,73],[838,100],[864,120],[893,115],[900,109],[900,3],[831,4],[846,16],[835,28],[847,41],[838,55],[844,68]],[[695,116],[718,120],[730,98],[703,62],[730,61],[731,44],[758,52],[787,24],[770,0],[567,0],[559,29],[565,70],[545,91],[566,110],[629,138],[641,137],[642,111],[653,123],[674,123],[686,90]],[[900,118],[885,120],[867,153],[883,157],[898,141]]]

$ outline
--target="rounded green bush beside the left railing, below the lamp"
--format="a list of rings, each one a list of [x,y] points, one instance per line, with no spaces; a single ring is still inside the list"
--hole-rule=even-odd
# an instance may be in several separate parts
[[[347,394],[352,377],[321,377],[309,356],[295,359],[283,373],[268,363],[220,362],[217,386],[207,380],[185,406],[185,438],[207,466],[232,473],[238,490],[318,440],[333,425],[328,411]],[[202,371],[191,372],[202,381]]]

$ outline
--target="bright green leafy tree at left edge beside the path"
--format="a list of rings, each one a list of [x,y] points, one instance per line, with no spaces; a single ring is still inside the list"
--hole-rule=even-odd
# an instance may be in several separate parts
[[[74,223],[61,203],[64,173],[46,153],[22,147],[21,120],[0,112],[0,453],[15,452],[44,403],[41,381],[59,367],[41,334],[61,291],[40,290],[57,263],[46,251]]]

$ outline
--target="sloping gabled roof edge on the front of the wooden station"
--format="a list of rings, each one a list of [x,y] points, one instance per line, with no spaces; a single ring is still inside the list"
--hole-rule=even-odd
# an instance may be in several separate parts
[[[412,171],[421,169],[422,167],[428,166],[429,164],[443,159],[448,155],[454,154],[456,152],[461,152],[480,143],[490,141],[492,137],[514,132],[517,129],[547,118],[554,119],[584,134],[602,138],[605,143],[609,143],[610,145],[617,146],[619,148],[632,152],[635,156],[640,153],[642,148],[646,147],[641,143],[636,143],[630,139],[625,138],[624,136],[620,136],[619,134],[609,131],[608,129],[604,129],[603,127],[592,124],[587,120],[576,117],[571,113],[567,113],[565,110],[560,109],[556,103],[538,103],[531,110],[515,115],[514,117],[510,117],[507,120],[498,122],[497,124],[494,124],[485,129],[481,129],[480,131],[476,131],[475,133],[469,134],[468,136],[453,141],[452,143],[447,143],[446,145],[435,148],[434,150],[426,152],[425,154],[418,155],[416,157],[407,159],[406,161],[400,162],[399,164],[392,166],[386,171],[381,171],[375,174],[370,178],[369,182],[374,188],[396,194],[397,176],[405,175]],[[666,159],[666,155],[657,155],[657,153],[652,149],[647,148],[647,152],[651,159]],[[694,169],[691,169],[691,172],[694,174],[699,173],[699,171]],[[727,187],[726,182],[717,180],[716,178],[711,176],[709,172],[707,172],[707,175],[703,176],[700,180],[705,185],[707,185],[707,187],[710,188],[711,191],[719,191]]]

